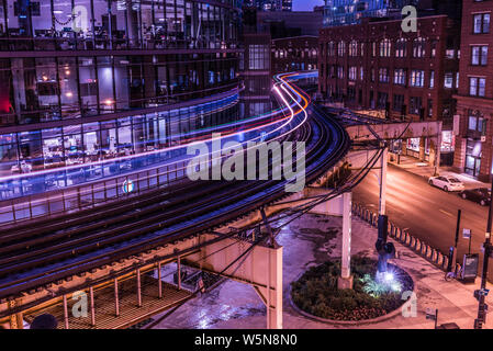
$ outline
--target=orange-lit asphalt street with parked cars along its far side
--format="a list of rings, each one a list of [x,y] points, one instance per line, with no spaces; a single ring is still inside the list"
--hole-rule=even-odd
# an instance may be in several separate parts
[[[378,212],[379,182],[376,174],[380,170],[371,171],[367,178],[354,190],[354,201]],[[386,190],[386,214],[389,220],[401,228],[408,228],[410,233],[447,253],[453,246],[457,226],[457,212],[462,211],[458,259],[468,252],[469,240],[462,238],[462,228],[472,231],[471,252],[480,253],[486,230],[488,207],[462,200],[457,193],[447,193],[427,183],[423,177],[406,172],[389,165]],[[489,281],[493,279],[493,262],[490,261]],[[482,265],[479,267],[479,274]]]

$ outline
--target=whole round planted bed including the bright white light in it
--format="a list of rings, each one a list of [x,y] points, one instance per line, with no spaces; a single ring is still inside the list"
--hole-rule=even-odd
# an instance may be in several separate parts
[[[399,314],[414,290],[410,274],[393,264],[377,278],[377,261],[368,257],[352,257],[351,273],[352,288],[339,290],[340,261],[311,268],[291,283],[293,307],[306,317],[329,324],[379,322]]]

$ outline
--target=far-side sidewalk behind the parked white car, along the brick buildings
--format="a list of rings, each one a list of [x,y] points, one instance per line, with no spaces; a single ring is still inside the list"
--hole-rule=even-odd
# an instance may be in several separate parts
[[[426,161],[419,161],[418,159],[410,156],[401,156],[401,162],[397,165],[397,161],[389,161],[390,165],[399,167],[401,169],[406,170],[416,176],[421,176],[428,180],[429,177],[434,176],[435,168],[429,166]],[[480,182],[472,178],[469,174],[457,173],[452,170],[451,167],[440,167],[439,168],[440,176],[452,176],[458,180],[464,183],[466,189],[475,189],[475,188],[490,188],[491,184]]]

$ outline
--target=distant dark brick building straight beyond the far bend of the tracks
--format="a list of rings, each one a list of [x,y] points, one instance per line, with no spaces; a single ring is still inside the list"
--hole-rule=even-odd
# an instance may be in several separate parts
[[[272,39],[271,63],[272,75],[317,69],[318,37],[303,35]]]

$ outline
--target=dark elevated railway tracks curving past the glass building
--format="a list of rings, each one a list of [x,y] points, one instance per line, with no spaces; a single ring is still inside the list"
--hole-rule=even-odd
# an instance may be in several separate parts
[[[307,183],[349,148],[345,129],[314,107],[309,123],[287,139],[306,143]],[[20,225],[0,235],[0,298],[212,230],[284,197],[284,185],[183,180],[97,210]]]

